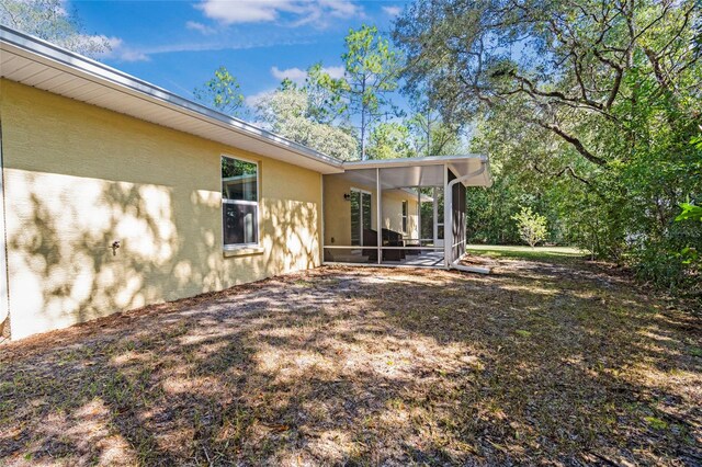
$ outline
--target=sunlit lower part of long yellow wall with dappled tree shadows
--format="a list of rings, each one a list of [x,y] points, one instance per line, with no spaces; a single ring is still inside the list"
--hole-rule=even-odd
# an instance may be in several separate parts
[[[24,176],[8,238],[19,335],[319,264],[313,203],[267,201],[265,258],[225,259],[214,193],[94,179],[45,193]]]

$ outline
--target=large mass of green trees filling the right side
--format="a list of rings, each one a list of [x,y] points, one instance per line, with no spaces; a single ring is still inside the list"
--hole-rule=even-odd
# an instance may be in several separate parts
[[[694,0],[408,8],[394,32],[408,86],[449,121],[477,122],[473,149],[497,169],[469,193],[469,234],[511,240],[500,203],[523,197],[558,242],[700,291],[699,263],[680,261],[702,244],[699,223],[675,221],[680,200],[702,196],[700,21]]]

